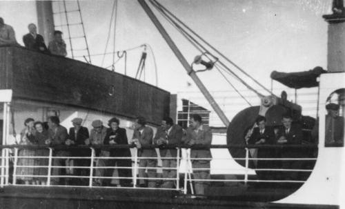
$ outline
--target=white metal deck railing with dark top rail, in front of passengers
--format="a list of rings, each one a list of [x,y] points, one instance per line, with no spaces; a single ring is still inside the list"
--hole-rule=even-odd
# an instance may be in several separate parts
[[[192,150],[194,148],[200,148],[200,149],[205,149],[205,148],[229,148],[229,147],[234,147],[234,146],[224,146],[224,145],[213,145],[213,146],[166,146],[165,148],[177,148],[177,153],[181,152],[181,148],[191,148]],[[273,167],[273,168],[250,168],[249,163],[251,161],[308,161],[308,162],[313,162],[316,161],[316,158],[303,158],[303,157],[296,157],[296,158],[259,158],[259,157],[250,157],[249,155],[249,150],[250,148],[317,148],[317,146],[315,145],[300,145],[300,146],[296,146],[296,145],[253,145],[253,146],[235,146],[237,148],[245,148],[246,150],[246,155],[242,158],[233,158],[235,160],[242,160],[245,161],[246,165],[242,168],[215,168],[213,170],[229,170],[231,172],[231,170],[233,170],[234,172],[242,172],[242,177],[240,176],[237,179],[197,179],[196,177],[193,177],[194,172],[197,172],[198,170],[208,170],[208,172],[210,172],[210,170],[212,170],[211,168],[192,168],[190,167],[191,162],[194,160],[206,160],[206,161],[211,161],[211,160],[217,160],[217,158],[192,158],[189,155],[186,155],[185,157],[179,157],[180,155],[177,155],[177,158],[175,157],[161,157],[161,159],[176,159],[177,161],[177,166],[176,167],[152,167],[152,166],[147,166],[147,167],[141,167],[139,166],[138,161],[142,160],[142,159],[158,159],[157,157],[138,157],[137,152],[138,152],[138,148],[135,147],[135,145],[114,145],[114,146],[32,146],[32,145],[12,145],[12,146],[0,146],[0,149],[5,149],[5,150],[9,150],[10,148],[14,148],[14,156],[11,157],[6,156],[6,158],[11,158],[14,161],[14,173],[12,174],[13,177],[13,181],[11,183],[13,183],[13,185],[16,186],[21,186],[21,184],[17,183],[18,179],[22,179],[24,177],[30,177],[30,178],[43,178],[46,179],[46,186],[52,186],[52,179],[66,179],[66,178],[70,178],[70,179],[86,179],[87,184],[82,185],[81,187],[89,187],[89,188],[93,188],[93,187],[99,187],[99,186],[95,186],[93,185],[94,180],[95,179],[132,179],[132,185],[130,186],[126,186],[126,188],[137,188],[137,189],[141,189],[137,187],[137,180],[140,179],[145,179],[146,181],[155,181],[155,182],[159,182],[159,181],[172,181],[175,182],[175,188],[168,188],[169,190],[177,190],[181,193],[187,194],[188,190],[187,188],[191,188],[190,192],[191,194],[194,194],[194,190],[193,190],[193,183],[197,183],[197,182],[204,182],[207,181],[209,183],[212,182],[239,182],[239,183],[244,183],[244,185],[248,184],[248,183],[253,183],[253,182],[267,182],[267,183],[304,183],[304,180],[301,179],[253,179],[253,177],[250,177],[250,175],[253,175],[253,171],[255,172],[301,172],[301,173],[306,173],[308,174],[308,172],[312,172],[311,168],[277,168],[277,167]],[[49,154],[47,154],[47,156],[19,156],[19,151],[21,149],[48,149],[49,150]],[[69,156],[55,156],[54,155],[54,150],[56,148],[59,149],[67,149],[67,150],[72,150],[72,149],[89,149],[91,150],[91,155],[88,157],[69,157]],[[130,157],[97,157],[96,156],[96,152],[95,150],[97,149],[102,149],[102,150],[111,150],[111,149],[122,149],[122,148],[134,148],[135,153],[134,155],[130,156]],[[144,146],[144,148],[148,149],[148,148],[159,148],[159,146]],[[8,153],[8,152],[6,152]],[[19,161],[21,159],[48,159],[48,164],[46,166],[37,166],[37,165],[18,165]],[[53,162],[55,159],[92,159],[91,162],[93,161],[97,161],[100,159],[103,160],[122,160],[122,159],[128,159],[130,161],[132,161],[132,166],[119,166],[119,165],[115,165],[115,166],[100,166],[97,164],[93,164],[90,163],[88,166],[70,166],[70,165],[66,165],[66,166],[57,166],[54,165]],[[220,158],[222,159],[222,158]],[[133,165],[133,161],[134,161],[134,165]],[[181,161],[187,161],[186,163],[186,167],[184,168],[184,170],[181,172],[180,170],[180,166],[181,166]],[[7,165],[6,165],[7,166]],[[47,168],[48,169],[48,174],[46,175],[32,175],[29,173],[17,173],[18,169],[21,168],[31,168],[31,169],[39,169],[39,168]],[[52,172],[52,170],[54,169],[69,169],[69,168],[74,168],[74,169],[87,169],[90,171],[89,174],[86,175],[77,175],[76,173],[69,173],[66,175],[61,175],[61,174],[55,174],[54,172]],[[131,170],[132,173],[134,173],[134,175],[132,175],[132,177],[126,177],[126,176],[118,176],[118,177],[112,177],[112,176],[99,176],[99,175],[94,175],[94,169],[123,169],[123,170]],[[183,167],[182,167],[183,168]],[[8,169],[8,168],[6,168]],[[137,174],[139,173],[137,170],[139,169],[148,169],[148,170],[156,170],[155,172],[157,173],[157,169],[161,169],[161,170],[175,170],[177,172],[176,177],[141,177],[141,176],[137,176]],[[251,174],[250,174],[250,170],[251,170]],[[179,180],[180,180],[180,174],[184,173],[184,183],[181,183],[183,185],[180,186],[179,184]],[[97,174],[97,172],[96,172]],[[1,178],[3,179],[8,179],[10,177],[10,174],[6,173],[5,176],[1,176]],[[5,184],[3,184],[2,186],[6,186],[8,185],[8,182],[6,182]],[[40,185],[41,186],[41,185]],[[72,185],[66,185],[66,186],[72,186]],[[102,188],[109,188],[110,186],[102,186]],[[114,188],[114,187],[111,187]],[[144,188],[144,189],[162,189],[162,190],[166,190],[167,188]]]

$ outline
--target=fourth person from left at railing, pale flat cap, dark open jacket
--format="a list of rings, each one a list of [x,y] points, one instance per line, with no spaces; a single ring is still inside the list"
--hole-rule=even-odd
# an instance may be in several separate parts
[[[67,145],[86,145],[89,135],[88,135],[88,128],[81,126],[83,123],[83,119],[76,117],[72,119],[72,128],[70,128],[68,132],[69,139],[66,140]],[[91,150],[89,148],[86,149],[73,149],[70,153],[72,157],[90,157]],[[80,166],[80,167],[90,167],[90,159],[72,159],[67,161],[69,166]],[[74,170],[67,170],[68,174],[75,173],[78,176],[89,176],[90,169],[88,168],[75,168]],[[86,178],[74,178],[72,179],[73,184],[77,185],[88,185],[88,179]]]

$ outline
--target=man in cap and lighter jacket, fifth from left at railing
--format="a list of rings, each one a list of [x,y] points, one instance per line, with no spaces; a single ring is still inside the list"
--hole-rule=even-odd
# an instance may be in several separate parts
[[[86,140],[86,144],[92,145],[103,145],[104,139],[106,138],[107,130],[105,126],[103,126],[103,122],[101,120],[95,120],[91,123],[92,129],[90,130],[90,138]],[[110,152],[108,150],[96,150],[96,157],[109,157]],[[96,159],[96,167],[105,167],[107,159]],[[104,176],[104,168],[96,168],[96,177],[103,177]],[[104,185],[103,179],[94,179],[92,183],[94,186],[102,186]]]

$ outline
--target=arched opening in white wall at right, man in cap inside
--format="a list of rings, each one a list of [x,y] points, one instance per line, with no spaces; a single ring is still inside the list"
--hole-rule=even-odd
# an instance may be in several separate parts
[[[325,146],[344,146],[345,88],[335,90],[326,100]]]

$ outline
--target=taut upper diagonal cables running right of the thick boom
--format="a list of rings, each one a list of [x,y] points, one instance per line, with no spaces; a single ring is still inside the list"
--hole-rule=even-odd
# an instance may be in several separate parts
[[[211,49],[213,49],[215,52],[217,52],[221,57],[223,57],[224,59],[226,59],[226,61],[228,61],[229,63],[231,63],[233,66],[235,66],[235,68],[237,68],[239,71],[241,71],[242,73],[244,73],[247,77],[249,77],[250,79],[252,79],[253,81],[255,81],[255,83],[257,83],[260,87],[262,87],[264,90],[266,90],[267,92],[269,92],[272,95],[273,92],[271,92],[270,90],[268,90],[265,86],[263,86],[261,83],[259,83],[256,79],[254,79],[253,77],[250,76],[250,74],[248,74],[247,72],[245,72],[242,68],[239,68],[239,66],[237,66],[233,61],[231,61],[230,59],[228,59],[228,57],[224,56],[224,54],[222,54],[221,52],[219,52],[219,50],[217,50],[216,48],[214,48],[213,46],[210,45],[210,43],[208,43],[206,40],[204,40],[202,37],[200,37],[196,32],[194,32],[192,29],[190,29],[188,26],[186,26],[186,24],[184,22],[182,22],[180,19],[178,19],[174,14],[172,14],[169,10],[167,10],[164,6],[162,6],[160,3],[158,3],[156,0],[150,0],[150,2],[155,2],[152,3],[152,5],[154,5],[156,8],[159,7],[162,10],[165,10],[166,12],[168,12],[168,14],[173,17],[174,19],[176,19],[179,23],[181,23],[182,26],[184,26],[187,30],[189,30],[190,32],[192,32],[192,34],[194,34],[198,39],[200,39],[201,41],[203,41],[204,43],[206,43],[206,45],[208,47],[210,47]],[[221,61],[219,61],[219,63],[221,63]],[[225,66],[225,65],[224,65]],[[227,67],[226,67],[227,68]],[[229,69],[230,70],[230,69]],[[242,80],[242,79],[241,79]],[[248,87],[248,84],[245,84]],[[254,88],[250,88],[251,90],[254,90]],[[255,90],[255,92],[257,92]],[[258,92],[257,92],[258,93]],[[262,95],[259,93],[259,95]]]

